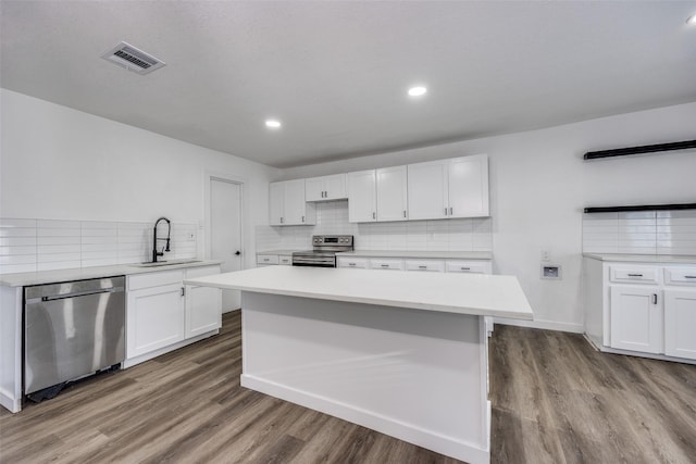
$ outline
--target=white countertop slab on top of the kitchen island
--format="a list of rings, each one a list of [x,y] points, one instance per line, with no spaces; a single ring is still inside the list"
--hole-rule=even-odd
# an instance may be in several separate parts
[[[532,319],[514,276],[266,266],[184,284],[481,316]]]

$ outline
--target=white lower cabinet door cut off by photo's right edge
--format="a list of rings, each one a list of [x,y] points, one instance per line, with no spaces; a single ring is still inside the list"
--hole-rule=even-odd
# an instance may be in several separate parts
[[[696,290],[664,290],[664,354],[696,360]]]

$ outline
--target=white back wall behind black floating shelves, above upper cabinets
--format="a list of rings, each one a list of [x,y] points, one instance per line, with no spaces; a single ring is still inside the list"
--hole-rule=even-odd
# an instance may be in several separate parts
[[[586,151],[689,140],[696,103],[289,168],[284,179],[488,153],[495,269],[517,275],[535,326],[582,330],[582,210],[696,201],[696,151],[584,162]],[[539,278],[540,252],[563,266]]]

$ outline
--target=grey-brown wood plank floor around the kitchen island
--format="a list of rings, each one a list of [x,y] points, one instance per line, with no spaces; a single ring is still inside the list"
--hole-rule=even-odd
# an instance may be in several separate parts
[[[455,463],[239,387],[240,317],[221,335],[0,412],[0,462]],[[694,463],[696,366],[496,326],[494,463]]]

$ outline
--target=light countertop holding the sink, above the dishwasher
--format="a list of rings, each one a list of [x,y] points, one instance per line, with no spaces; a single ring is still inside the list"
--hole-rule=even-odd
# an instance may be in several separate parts
[[[179,264],[174,264],[181,261]],[[188,262],[187,262],[188,261]],[[7,287],[25,287],[60,281],[82,280],[89,278],[102,278],[113,276],[127,276],[133,274],[156,273],[186,267],[201,267],[221,264],[222,261],[195,261],[170,260],[166,266],[141,267],[138,264],[116,264],[112,266],[78,267],[72,269],[39,271],[35,273],[0,274],[0,285]]]

